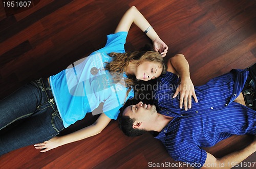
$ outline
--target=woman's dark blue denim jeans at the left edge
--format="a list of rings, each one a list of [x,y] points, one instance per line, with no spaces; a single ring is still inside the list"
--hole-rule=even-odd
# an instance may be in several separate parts
[[[46,78],[32,81],[0,101],[0,155],[45,142],[63,129]]]

